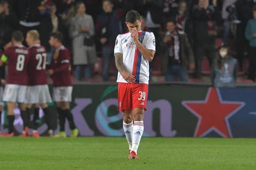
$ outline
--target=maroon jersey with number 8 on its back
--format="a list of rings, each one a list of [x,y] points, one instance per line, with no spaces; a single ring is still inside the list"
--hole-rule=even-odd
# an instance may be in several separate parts
[[[8,48],[4,55],[8,64],[7,84],[28,85],[28,49],[23,45],[14,45]]]

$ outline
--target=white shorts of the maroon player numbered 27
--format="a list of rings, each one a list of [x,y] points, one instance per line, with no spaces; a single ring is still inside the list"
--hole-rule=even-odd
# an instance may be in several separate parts
[[[27,103],[28,104],[44,104],[51,103],[52,98],[47,84],[28,86]]]

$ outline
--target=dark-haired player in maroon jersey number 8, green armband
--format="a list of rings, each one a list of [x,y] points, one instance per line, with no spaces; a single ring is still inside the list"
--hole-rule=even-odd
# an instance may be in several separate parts
[[[0,66],[8,62],[7,84],[4,88],[3,101],[7,102],[8,130],[5,135],[14,135],[14,108],[18,102],[20,114],[24,122],[24,129],[28,128],[28,115],[26,112],[26,89],[28,85],[28,61],[30,55],[28,49],[22,45],[24,37],[22,32],[14,31],[12,34],[13,46],[8,48],[0,59]],[[21,134],[22,135],[22,134]]]

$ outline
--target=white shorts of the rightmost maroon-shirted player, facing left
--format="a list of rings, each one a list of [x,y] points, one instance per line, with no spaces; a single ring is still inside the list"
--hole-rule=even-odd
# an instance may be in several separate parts
[[[72,86],[54,87],[52,99],[54,102],[71,102],[72,101]]]

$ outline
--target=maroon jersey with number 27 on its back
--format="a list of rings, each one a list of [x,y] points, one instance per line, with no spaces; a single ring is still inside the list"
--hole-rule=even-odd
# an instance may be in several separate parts
[[[28,67],[28,85],[47,84],[46,49],[40,44],[28,48],[30,53]]]

